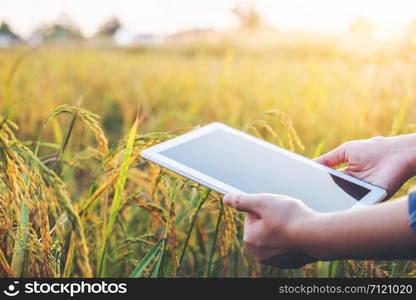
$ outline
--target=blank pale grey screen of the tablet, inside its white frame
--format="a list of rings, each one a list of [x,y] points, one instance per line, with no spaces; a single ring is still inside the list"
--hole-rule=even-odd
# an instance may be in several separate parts
[[[245,193],[288,195],[321,212],[348,209],[370,192],[325,169],[222,129],[160,154]]]

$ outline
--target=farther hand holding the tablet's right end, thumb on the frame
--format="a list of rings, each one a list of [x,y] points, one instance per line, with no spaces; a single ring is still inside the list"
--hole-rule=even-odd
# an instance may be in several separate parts
[[[328,167],[346,163],[342,172],[386,189],[391,197],[416,174],[416,135],[350,141],[315,161]]]

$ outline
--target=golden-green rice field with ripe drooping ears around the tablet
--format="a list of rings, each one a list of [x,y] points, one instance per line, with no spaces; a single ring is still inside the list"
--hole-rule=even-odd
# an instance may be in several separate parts
[[[415,75],[400,45],[0,50],[0,276],[415,276],[413,261],[259,265],[221,195],[140,157],[213,121],[308,157],[411,132]]]

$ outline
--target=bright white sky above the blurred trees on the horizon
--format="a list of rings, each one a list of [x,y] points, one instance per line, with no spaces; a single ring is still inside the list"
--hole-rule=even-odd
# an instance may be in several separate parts
[[[281,30],[338,34],[364,16],[388,35],[416,17],[415,0],[0,0],[0,20],[26,37],[39,24],[56,21],[63,14],[87,36],[111,16],[130,31],[165,34],[235,26],[230,9],[251,4],[268,24]]]

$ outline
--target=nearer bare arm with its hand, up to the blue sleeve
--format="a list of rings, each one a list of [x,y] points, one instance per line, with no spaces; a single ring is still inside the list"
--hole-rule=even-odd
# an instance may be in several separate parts
[[[247,213],[244,242],[264,264],[296,268],[316,260],[416,257],[406,197],[333,213],[272,194],[229,194],[224,203]]]

